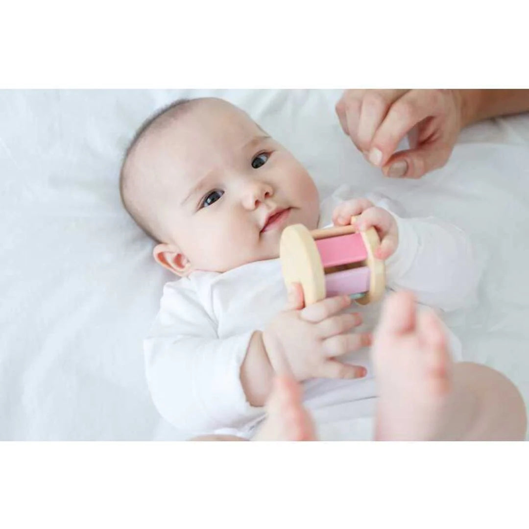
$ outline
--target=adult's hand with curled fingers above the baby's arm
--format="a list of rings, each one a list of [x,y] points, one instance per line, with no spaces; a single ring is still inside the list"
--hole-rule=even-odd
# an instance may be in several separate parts
[[[345,90],[336,104],[345,134],[389,177],[442,167],[463,126],[459,90]],[[395,153],[408,135],[410,149]]]

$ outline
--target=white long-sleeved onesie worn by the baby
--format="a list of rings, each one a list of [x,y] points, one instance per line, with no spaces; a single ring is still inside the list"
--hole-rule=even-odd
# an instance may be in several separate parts
[[[414,291],[418,302],[451,311],[461,307],[477,284],[466,235],[457,227],[427,218],[405,218],[382,195],[342,186],[321,205],[320,226],[331,224],[343,200],[365,196],[394,215],[397,251],[386,261],[389,289]],[[144,340],[147,381],[160,414],[189,435],[229,433],[250,438],[264,408],[245,399],[240,369],[252,333],[264,330],[286,305],[279,259],[257,261],[233,270],[196,271],[163,288],[160,311]],[[361,312],[359,331],[378,321],[380,302],[351,309]],[[452,354],[460,344],[449,333]],[[371,439],[376,402],[369,349],[341,360],[366,367],[357,380],[312,379],[303,383],[304,405],[322,440]]]

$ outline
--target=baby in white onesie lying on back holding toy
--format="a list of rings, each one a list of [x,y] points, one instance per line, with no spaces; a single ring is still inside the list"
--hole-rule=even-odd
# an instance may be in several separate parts
[[[215,98],[151,117],[127,150],[120,189],[157,241],[154,259],[180,277],[165,286],[144,341],[153,402],[180,430],[205,439],[523,438],[525,409],[510,381],[453,363],[455,336],[432,312],[415,314],[414,297],[450,311],[475,287],[470,245],[454,226],[406,218],[387,197],[348,186],[320,204],[292,154]],[[359,230],[380,235],[388,288],[414,294],[386,300],[372,351],[380,304],[351,312],[351,299],[337,296],[304,307],[297,286],[287,302],[278,260],[286,226],[345,225],[354,215]]]

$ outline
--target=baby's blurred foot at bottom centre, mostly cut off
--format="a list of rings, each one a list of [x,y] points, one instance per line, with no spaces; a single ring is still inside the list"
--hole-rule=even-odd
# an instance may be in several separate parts
[[[302,405],[302,391],[294,379],[276,378],[267,403],[267,418],[252,440],[316,440],[314,424]]]

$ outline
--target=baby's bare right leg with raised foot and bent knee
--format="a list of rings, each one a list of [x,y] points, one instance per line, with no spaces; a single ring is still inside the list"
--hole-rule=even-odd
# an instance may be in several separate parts
[[[379,386],[376,439],[522,440],[525,406],[503,375],[454,364],[440,320],[413,296],[385,303],[373,344]]]

